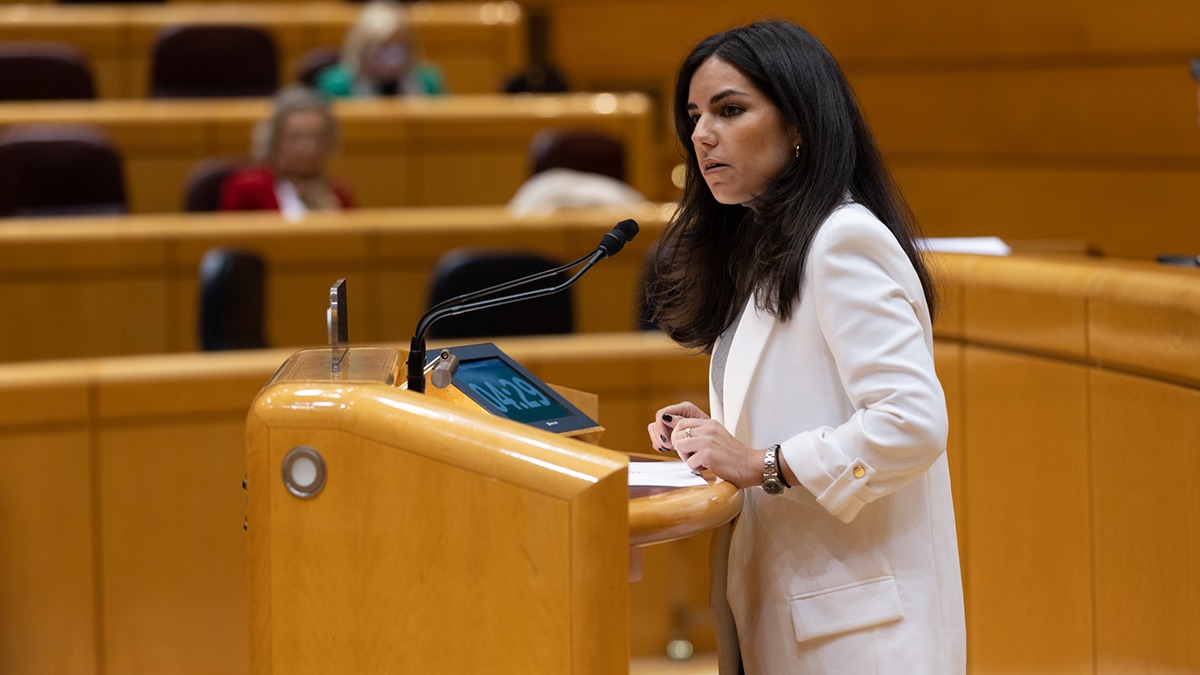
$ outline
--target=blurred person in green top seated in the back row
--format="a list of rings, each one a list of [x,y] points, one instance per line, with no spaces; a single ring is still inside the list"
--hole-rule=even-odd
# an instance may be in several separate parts
[[[342,44],[342,60],[317,73],[330,96],[445,94],[442,71],[421,59],[408,11],[395,0],[372,0]]]

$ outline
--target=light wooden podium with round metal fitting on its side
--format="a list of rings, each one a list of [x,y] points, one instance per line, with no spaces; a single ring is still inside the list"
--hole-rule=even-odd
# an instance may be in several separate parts
[[[402,390],[402,357],[299,352],[254,402],[252,673],[628,673],[630,543],[740,495],[634,508],[626,455]]]

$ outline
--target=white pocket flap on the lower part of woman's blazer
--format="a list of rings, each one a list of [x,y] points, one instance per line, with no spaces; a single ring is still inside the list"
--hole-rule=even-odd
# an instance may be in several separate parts
[[[796,596],[791,604],[797,643],[904,619],[900,591],[893,577]]]

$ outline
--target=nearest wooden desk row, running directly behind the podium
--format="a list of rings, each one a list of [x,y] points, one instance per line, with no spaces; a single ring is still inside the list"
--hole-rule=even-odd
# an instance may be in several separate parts
[[[646,411],[707,390],[707,359],[660,334],[497,342],[599,394],[608,448],[644,452]],[[19,477],[0,490],[0,671],[248,671],[245,420],[290,353],[0,365],[0,459]],[[632,653],[662,653],[684,608],[713,649],[706,568],[683,565],[704,549],[647,550]]]

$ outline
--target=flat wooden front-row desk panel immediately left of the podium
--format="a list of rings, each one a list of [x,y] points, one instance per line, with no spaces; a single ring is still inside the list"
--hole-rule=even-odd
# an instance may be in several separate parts
[[[241,417],[101,431],[106,673],[247,671]]]

